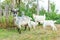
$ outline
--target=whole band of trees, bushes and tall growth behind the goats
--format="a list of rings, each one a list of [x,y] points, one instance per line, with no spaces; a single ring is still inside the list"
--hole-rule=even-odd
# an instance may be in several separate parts
[[[0,27],[12,27],[14,25],[13,23],[13,12],[11,12],[12,8],[18,9],[18,15],[21,16],[22,12],[24,12],[24,15],[32,17],[32,14],[37,14],[37,4],[33,3],[36,0],[29,1],[27,0],[27,4],[22,2],[22,0],[14,1],[12,0],[5,0],[1,3],[0,9],[3,10],[0,13]],[[13,2],[13,3],[12,3]],[[14,4],[14,5],[12,5]],[[32,5],[32,7],[30,7]],[[57,24],[60,24],[60,14],[57,14],[55,3],[50,3],[49,7],[50,11],[46,11],[43,7],[39,10],[39,15],[46,15],[46,20],[56,20]],[[7,25],[8,24],[8,25]]]

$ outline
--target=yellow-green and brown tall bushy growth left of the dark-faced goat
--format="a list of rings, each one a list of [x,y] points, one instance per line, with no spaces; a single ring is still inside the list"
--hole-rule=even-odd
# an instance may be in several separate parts
[[[6,19],[5,16],[2,16],[0,18],[0,28],[6,28],[6,27],[13,27],[13,16],[9,16],[8,19]]]

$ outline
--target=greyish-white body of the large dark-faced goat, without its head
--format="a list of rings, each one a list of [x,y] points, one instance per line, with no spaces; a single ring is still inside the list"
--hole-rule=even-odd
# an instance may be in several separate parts
[[[30,18],[30,17],[28,17],[28,16],[18,17],[18,16],[16,15],[16,17],[14,17],[14,19],[15,19],[15,24],[17,25],[18,29],[20,30],[20,29],[21,29],[21,26],[27,25],[28,22],[29,22],[32,18]],[[25,28],[26,28],[26,27],[25,27]],[[19,31],[19,30],[18,30],[18,31]],[[21,30],[20,30],[20,32],[21,32]]]

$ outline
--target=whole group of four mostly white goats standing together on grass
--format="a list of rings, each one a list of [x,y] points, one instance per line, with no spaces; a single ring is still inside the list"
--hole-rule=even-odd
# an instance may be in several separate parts
[[[51,26],[52,27],[52,30],[57,30],[56,26],[55,26],[55,22],[56,21],[53,21],[53,20],[45,20],[46,19],[46,16],[45,14],[44,15],[36,15],[36,14],[33,14],[33,19],[34,21],[32,21],[32,18],[29,17],[29,16],[15,16],[14,17],[14,23],[15,25],[17,25],[17,28],[18,28],[18,32],[21,33],[21,27],[26,27],[28,26],[29,30],[33,27],[34,29],[36,28],[36,26],[38,25],[38,22],[40,24],[43,25],[43,28],[45,29],[46,26]]]

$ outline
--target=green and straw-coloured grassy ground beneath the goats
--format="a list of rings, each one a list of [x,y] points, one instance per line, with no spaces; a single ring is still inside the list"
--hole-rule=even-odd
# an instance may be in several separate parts
[[[52,31],[51,29],[44,30],[41,26],[35,30],[22,30],[21,34],[16,30],[0,29],[0,40],[56,40],[57,35],[59,35],[57,31]]]

